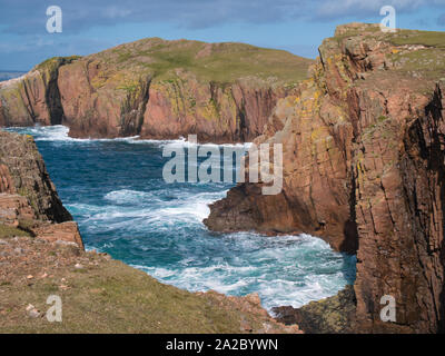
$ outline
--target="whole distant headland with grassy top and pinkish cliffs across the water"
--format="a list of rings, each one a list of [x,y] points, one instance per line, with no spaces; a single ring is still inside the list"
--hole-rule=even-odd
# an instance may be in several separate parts
[[[241,43],[145,39],[52,58],[0,83],[0,126],[63,123],[73,137],[253,140],[310,62]]]

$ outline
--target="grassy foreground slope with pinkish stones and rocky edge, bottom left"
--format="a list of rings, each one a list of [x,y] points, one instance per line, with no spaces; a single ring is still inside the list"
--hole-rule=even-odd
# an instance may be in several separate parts
[[[256,297],[192,294],[72,244],[10,230],[0,251],[0,333],[298,333]],[[50,295],[61,298],[60,323],[46,318]]]

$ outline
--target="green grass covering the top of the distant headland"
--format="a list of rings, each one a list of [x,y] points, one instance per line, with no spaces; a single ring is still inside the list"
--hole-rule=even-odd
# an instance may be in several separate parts
[[[151,73],[157,80],[175,80],[176,70],[186,70],[204,81],[234,82],[239,78],[296,83],[307,76],[310,59],[283,50],[258,48],[244,43],[205,43],[199,41],[165,41],[144,39],[91,55],[123,77]]]

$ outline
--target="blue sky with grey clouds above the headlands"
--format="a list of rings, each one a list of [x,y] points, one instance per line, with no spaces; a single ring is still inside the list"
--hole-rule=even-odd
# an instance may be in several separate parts
[[[47,9],[61,9],[49,33]],[[337,24],[382,21],[445,31],[445,0],[0,0],[0,70],[28,71],[55,56],[85,56],[147,37],[245,42],[315,58]]]

